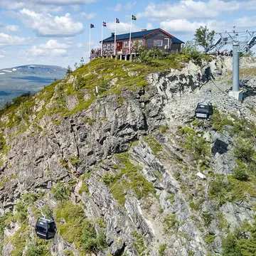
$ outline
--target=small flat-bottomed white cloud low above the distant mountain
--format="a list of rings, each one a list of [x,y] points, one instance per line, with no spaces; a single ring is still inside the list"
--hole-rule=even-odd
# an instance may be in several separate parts
[[[60,56],[65,56],[67,54],[67,50],[65,49],[42,49],[38,48],[37,46],[32,46],[28,50],[21,50],[19,52],[20,55],[22,56],[55,56],[55,57],[60,57]]]

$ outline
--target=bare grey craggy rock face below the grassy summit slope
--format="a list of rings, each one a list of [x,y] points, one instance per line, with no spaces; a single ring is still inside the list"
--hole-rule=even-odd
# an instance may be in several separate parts
[[[120,95],[99,97],[74,114],[60,117],[58,112],[52,116],[46,112],[40,119],[31,116],[30,122],[37,119],[37,123],[22,132],[17,127],[5,127],[0,206],[8,242],[4,242],[3,255],[18,250],[15,240],[8,240],[14,233],[22,238],[27,230],[27,240],[37,242],[29,225],[40,215],[33,206],[40,212],[44,205],[57,209],[58,234],[46,246],[52,255],[85,255],[85,240],[78,242],[75,235],[69,236],[85,225],[84,218],[92,220],[98,235],[101,230],[105,234],[105,245],[89,247],[91,255],[220,255],[228,232],[220,222],[228,223],[230,230],[245,222],[252,224],[255,202],[254,195],[243,191],[245,198],[240,201],[232,198],[218,204],[219,198],[209,190],[214,178],[231,176],[238,166],[232,153],[232,127],[227,123],[215,129],[214,123],[204,122],[193,124],[190,133],[182,133],[178,127],[188,126],[196,104],[206,100],[220,112],[238,116],[239,110],[243,117],[255,120],[248,108],[255,101],[252,96],[235,104],[227,96],[225,90],[230,86],[218,80],[226,70],[221,59],[203,62],[202,66],[190,62],[182,70],[151,73],[146,76],[146,87],[123,87]],[[135,79],[139,72],[129,71],[128,75]],[[76,80],[75,75],[65,79],[70,84]],[[118,82],[112,78],[110,86]],[[41,110],[39,96],[35,98]],[[80,95],[67,94],[63,106],[73,111],[80,105],[79,99]],[[48,107],[53,104],[49,101]],[[5,120],[3,115],[1,122]],[[203,142],[207,148],[196,154],[198,147],[189,144],[193,141]],[[207,179],[198,178],[198,171]],[[65,200],[82,209],[82,218],[73,216],[71,222],[62,215],[58,190],[53,189],[58,181],[73,187]],[[43,197],[38,196],[41,192]],[[31,201],[28,194],[37,197]],[[22,212],[19,203],[31,207],[26,209],[28,217],[8,221],[8,214]],[[29,225],[24,228],[26,218]],[[206,239],[209,237],[213,239]],[[26,240],[22,246],[21,254],[28,250]]]

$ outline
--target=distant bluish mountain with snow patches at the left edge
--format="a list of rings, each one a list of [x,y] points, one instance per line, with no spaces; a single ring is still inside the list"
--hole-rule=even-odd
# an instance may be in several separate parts
[[[56,65],[21,65],[0,69],[0,105],[30,91],[32,94],[65,76],[66,68]]]

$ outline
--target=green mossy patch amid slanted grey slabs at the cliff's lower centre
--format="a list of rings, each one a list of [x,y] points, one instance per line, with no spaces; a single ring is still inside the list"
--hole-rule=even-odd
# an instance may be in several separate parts
[[[141,173],[142,168],[140,166],[134,166],[129,161],[127,152],[115,156],[125,167],[119,166],[120,173],[111,178],[112,182],[108,186],[110,187],[110,193],[117,199],[120,206],[124,206],[125,193],[129,189],[135,192],[138,199],[148,196],[149,193],[155,193],[153,184],[146,181]]]

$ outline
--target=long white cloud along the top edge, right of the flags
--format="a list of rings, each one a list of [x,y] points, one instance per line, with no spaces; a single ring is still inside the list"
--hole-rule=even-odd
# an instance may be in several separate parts
[[[255,0],[252,0],[256,2]],[[152,20],[163,20],[164,18],[215,18],[224,11],[235,11],[244,7],[244,3],[237,0],[225,2],[223,0],[181,0],[178,3],[170,4],[163,2],[162,4],[150,3],[146,6],[144,12],[137,14],[138,18],[146,17]]]

